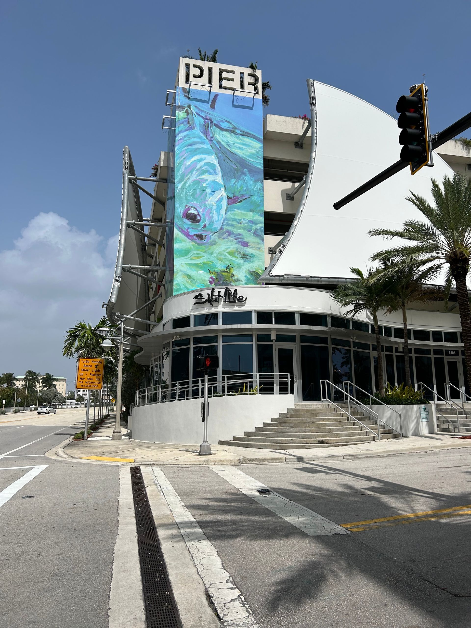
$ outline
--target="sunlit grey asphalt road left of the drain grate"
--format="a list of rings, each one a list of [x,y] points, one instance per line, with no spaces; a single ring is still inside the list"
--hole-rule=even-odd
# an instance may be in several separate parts
[[[44,455],[83,429],[84,413],[0,423],[0,492],[37,473],[8,501],[0,497],[2,628],[108,625],[118,469]]]

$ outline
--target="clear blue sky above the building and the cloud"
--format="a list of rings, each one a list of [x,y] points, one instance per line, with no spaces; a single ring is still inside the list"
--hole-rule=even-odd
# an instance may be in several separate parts
[[[425,73],[435,132],[470,109],[470,18],[471,4],[460,0],[3,0],[0,249],[8,257],[21,230],[41,212],[68,220],[73,242],[74,237],[80,241],[78,232],[94,229],[98,236],[91,237],[104,264],[102,283],[98,288],[95,283],[96,295],[89,294],[90,303],[93,294],[98,305],[89,317],[97,317],[111,285],[111,276],[105,279],[113,255],[107,245],[119,227],[122,147],[131,148],[138,174],[150,175],[166,148],[160,130],[165,92],[173,87],[178,57],[187,49],[197,55],[198,46],[219,48],[218,60],[232,65],[256,61],[273,85],[266,111],[288,116],[308,114],[306,78],[352,92],[389,113]],[[60,221],[55,225],[65,229]],[[21,242],[24,249],[30,240]],[[53,261],[48,272],[58,272]],[[83,279],[87,296],[94,279]],[[80,276],[72,273],[70,281]],[[24,302],[35,307],[27,301],[29,285]],[[56,303],[53,284],[44,293]],[[70,311],[68,320],[73,323],[87,311]],[[9,324],[0,327],[3,337]],[[54,361],[60,353],[55,338],[47,366],[57,371],[65,365]],[[8,364],[18,372],[30,366],[46,370],[41,353],[34,365],[2,354],[0,372]]]

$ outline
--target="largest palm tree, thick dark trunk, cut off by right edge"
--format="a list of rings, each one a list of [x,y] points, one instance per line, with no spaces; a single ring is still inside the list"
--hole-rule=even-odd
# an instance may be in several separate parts
[[[452,179],[443,177],[443,188],[432,179],[431,193],[434,204],[411,192],[407,200],[425,216],[427,222],[407,220],[402,229],[372,229],[371,236],[387,239],[400,238],[406,244],[385,249],[372,259],[393,257],[397,268],[420,262],[426,268],[447,269],[445,303],[455,283],[462,329],[462,342],[468,384],[471,386],[471,311],[467,276],[471,257],[471,179],[455,174]]]

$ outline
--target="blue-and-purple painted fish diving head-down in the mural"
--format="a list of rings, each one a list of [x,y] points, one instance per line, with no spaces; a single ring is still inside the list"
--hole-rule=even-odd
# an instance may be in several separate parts
[[[215,100],[212,109],[214,104]],[[228,197],[225,192],[213,146],[212,117],[196,112],[192,105],[187,105],[184,113],[176,126],[175,225],[192,242],[209,244],[224,223],[227,207],[248,195]]]

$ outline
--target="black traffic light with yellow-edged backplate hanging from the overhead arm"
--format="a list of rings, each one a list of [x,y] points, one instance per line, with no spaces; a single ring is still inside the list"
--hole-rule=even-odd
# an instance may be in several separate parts
[[[428,112],[424,84],[411,87],[408,96],[401,96],[396,105],[401,161],[409,161],[411,175],[425,166],[430,158],[428,143]]]

